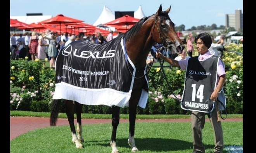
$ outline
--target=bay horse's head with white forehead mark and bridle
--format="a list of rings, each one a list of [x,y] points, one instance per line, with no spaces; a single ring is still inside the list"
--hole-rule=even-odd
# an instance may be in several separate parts
[[[152,15],[155,17],[155,22],[152,29],[152,39],[158,44],[163,44],[166,48],[169,48],[172,52],[182,53],[185,45],[182,43],[178,35],[176,34],[174,23],[171,21],[168,13],[169,9],[162,12],[162,4],[157,10],[156,14]]]

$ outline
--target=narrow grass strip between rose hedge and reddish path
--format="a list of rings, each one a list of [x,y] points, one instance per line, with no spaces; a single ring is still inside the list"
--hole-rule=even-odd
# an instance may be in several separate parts
[[[31,112],[31,111],[19,111],[19,110],[10,110],[10,116],[32,116],[32,117],[50,117],[50,112]],[[76,118],[76,114],[74,115]],[[111,119],[112,114],[90,114],[82,113],[82,119]],[[223,117],[226,117],[223,115]],[[228,118],[243,118],[243,114],[228,114]],[[59,113],[59,118],[67,118],[66,113]],[[207,118],[207,116],[206,116]],[[120,119],[129,119],[128,114],[120,114]],[[136,119],[190,119],[190,115],[136,115]]]

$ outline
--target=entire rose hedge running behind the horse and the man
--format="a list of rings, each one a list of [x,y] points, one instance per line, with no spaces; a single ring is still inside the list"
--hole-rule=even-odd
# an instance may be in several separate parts
[[[243,113],[243,53],[242,45],[230,44],[223,53],[226,82],[223,86],[227,98],[228,113]],[[45,60],[10,60],[10,110],[50,111],[55,89],[55,70],[45,68]],[[138,114],[188,114],[180,107],[184,88],[185,70],[152,67],[147,74],[149,97],[145,109]],[[166,81],[167,79],[167,81]],[[14,90],[15,88],[15,90]],[[173,96],[175,95],[175,96]],[[178,98],[178,99],[176,99]],[[63,104],[64,105],[64,104]],[[83,113],[111,113],[107,106],[83,106]],[[64,112],[61,106],[60,112]],[[128,109],[121,108],[121,113]]]

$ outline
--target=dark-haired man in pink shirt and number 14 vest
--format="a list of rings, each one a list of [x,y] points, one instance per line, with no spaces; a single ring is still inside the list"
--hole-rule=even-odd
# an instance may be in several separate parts
[[[156,57],[160,57],[163,60],[166,60],[173,66],[180,67],[181,69],[186,69],[184,88],[189,89],[190,87],[190,90],[183,91],[183,99],[186,99],[186,97],[190,96],[191,94],[192,99],[194,98],[195,101],[197,101],[199,98],[200,100],[210,99],[212,101],[216,101],[217,98],[218,100],[222,98],[224,99],[224,101],[222,102],[226,102],[222,88],[226,80],[224,63],[221,58],[211,55],[208,50],[212,43],[211,36],[208,33],[201,33],[195,36],[194,41],[196,44],[196,49],[199,52],[198,57],[196,56],[191,57],[188,60],[177,61],[163,56],[160,52],[157,52]],[[203,72],[204,69],[206,70],[206,72]],[[198,70],[197,73],[195,70]],[[197,87],[198,90],[194,92],[194,87],[196,86],[200,86],[201,88]],[[185,94],[186,92],[187,94]],[[210,93],[209,97],[206,97],[205,95],[207,95],[208,93]],[[209,120],[214,131],[214,153],[223,152],[223,131],[221,127],[221,122],[218,118],[218,110],[223,110],[225,109],[225,107],[226,106],[224,106],[223,108],[220,103],[214,105],[211,116],[209,116]],[[193,153],[204,153],[205,151],[204,145],[202,143],[202,129],[204,128],[205,115],[206,113],[198,112],[195,110],[191,112],[191,127],[194,148]]]

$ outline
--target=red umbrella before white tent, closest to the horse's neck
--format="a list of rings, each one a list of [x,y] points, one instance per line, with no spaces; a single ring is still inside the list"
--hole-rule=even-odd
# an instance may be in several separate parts
[[[113,21],[105,23],[105,25],[114,26],[114,27],[115,26],[126,26],[126,30],[127,30],[129,25],[134,25],[138,21],[140,21],[140,19],[136,19],[134,17],[131,17],[130,15],[124,15],[124,16],[119,17]]]

